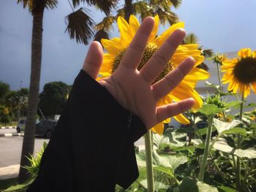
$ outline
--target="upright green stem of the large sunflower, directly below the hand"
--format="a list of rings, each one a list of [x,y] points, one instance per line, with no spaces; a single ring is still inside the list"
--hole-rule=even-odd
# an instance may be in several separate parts
[[[146,150],[146,169],[148,192],[154,192],[154,174],[153,174],[153,159],[152,159],[152,144],[151,131],[145,134],[145,150]]]

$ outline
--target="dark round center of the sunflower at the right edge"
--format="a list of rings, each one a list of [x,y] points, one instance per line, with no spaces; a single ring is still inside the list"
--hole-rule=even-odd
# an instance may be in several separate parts
[[[241,58],[234,67],[233,73],[239,82],[244,84],[256,81],[256,58]]]

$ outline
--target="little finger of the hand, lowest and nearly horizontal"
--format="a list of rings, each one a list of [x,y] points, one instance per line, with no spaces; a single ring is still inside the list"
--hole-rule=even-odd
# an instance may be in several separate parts
[[[173,117],[189,110],[195,104],[195,100],[192,98],[184,99],[172,104],[166,104],[160,107],[157,107],[157,123],[166,120],[167,118]]]

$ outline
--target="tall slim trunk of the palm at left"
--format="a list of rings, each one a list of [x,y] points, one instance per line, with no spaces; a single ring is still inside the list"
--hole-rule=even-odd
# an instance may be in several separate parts
[[[34,153],[34,135],[39,95],[39,82],[42,61],[42,18],[43,9],[33,15],[33,31],[31,42],[31,74],[29,85],[29,106],[26,114],[25,133],[23,137],[22,153],[20,160],[19,182],[29,179],[29,172],[23,166],[30,166],[27,157]]]

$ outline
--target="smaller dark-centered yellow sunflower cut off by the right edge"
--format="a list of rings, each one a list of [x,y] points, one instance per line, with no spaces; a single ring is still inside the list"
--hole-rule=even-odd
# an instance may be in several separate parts
[[[250,88],[256,93],[256,50],[243,48],[238,51],[239,58],[222,61],[223,83],[230,83],[228,91],[249,96]]]

